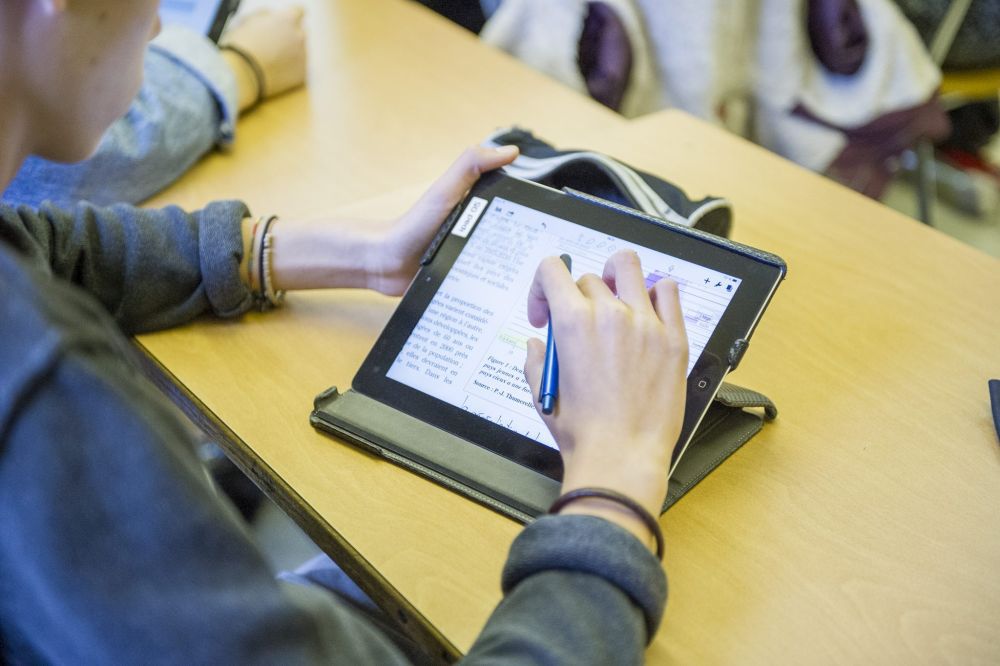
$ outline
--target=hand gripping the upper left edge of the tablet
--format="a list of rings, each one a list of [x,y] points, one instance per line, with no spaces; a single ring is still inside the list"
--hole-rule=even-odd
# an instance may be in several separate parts
[[[420,257],[444,222],[479,176],[517,157],[515,146],[467,149],[430,189],[374,243],[368,262],[368,286],[399,296],[419,268]]]

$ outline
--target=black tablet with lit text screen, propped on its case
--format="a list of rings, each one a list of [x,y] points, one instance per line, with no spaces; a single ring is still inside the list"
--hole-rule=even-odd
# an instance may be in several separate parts
[[[667,474],[723,377],[739,363],[785,275],[784,262],[603,199],[502,172],[481,178],[431,243],[354,377],[352,400],[363,401],[364,408],[353,417],[318,408],[314,425],[331,429],[333,423],[335,432],[355,443],[378,440],[369,448],[397,462],[419,459],[422,470],[473,487],[502,487],[512,483],[510,477],[522,476],[520,470],[557,485],[559,451],[523,374],[526,341],[546,335],[528,322],[529,286],[543,257],[569,254],[573,277],[579,278],[600,275],[607,258],[626,248],[638,253],[647,286],[663,278],[678,283],[690,344],[684,423]],[[594,390],[601,390],[599,377]],[[650,408],[656,409],[656,396],[650,396]],[[352,419],[369,423],[345,423]],[[385,432],[371,434],[380,428]],[[361,436],[362,430],[368,434]],[[428,438],[436,440],[433,447],[424,441]],[[466,454],[468,466],[476,469],[471,482],[468,470],[458,469]],[[503,478],[487,483],[477,476],[482,474]]]

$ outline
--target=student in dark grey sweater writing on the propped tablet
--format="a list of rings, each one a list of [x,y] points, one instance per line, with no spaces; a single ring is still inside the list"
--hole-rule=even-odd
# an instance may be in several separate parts
[[[29,153],[93,150],[139,86],[156,6],[0,3],[0,183]],[[447,211],[514,153],[467,151],[379,230],[265,218],[255,232],[238,202],[0,209],[0,659],[403,663],[350,602],[270,576],[206,481],[189,426],[126,360],[121,330],[237,316],[279,289],[399,294]],[[551,312],[559,340],[560,402],[545,418],[563,489],[608,488],[640,508],[585,498],[526,527],[468,661],[637,663],[666,598],[640,515],[658,512],[683,413],[676,285],[647,292],[634,254],[576,283],[550,258],[528,309],[536,324]],[[542,356],[531,342],[536,395]]]

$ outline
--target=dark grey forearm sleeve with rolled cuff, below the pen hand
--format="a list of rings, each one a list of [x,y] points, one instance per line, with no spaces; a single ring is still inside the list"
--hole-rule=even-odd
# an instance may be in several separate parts
[[[663,567],[592,516],[546,516],[515,539],[504,599],[469,664],[641,664],[666,605]]]

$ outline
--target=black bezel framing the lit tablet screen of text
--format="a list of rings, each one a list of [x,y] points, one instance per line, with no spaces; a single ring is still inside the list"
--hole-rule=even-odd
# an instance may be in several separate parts
[[[465,210],[472,197],[488,203],[501,197],[742,280],[688,376],[681,445],[674,452],[676,464],[726,373],[738,362],[731,354],[734,342],[749,339],[784,277],[784,262],[723,238],[613,204],[594,203],[499,171],[483,176],[442,225],[423,267],[355,375],[353,389],[550,479],[562,480],[562,460],[557,450],[386,376],[465,244],[476,233],[478,219],[467,236],[451,233],[459,212]]]

